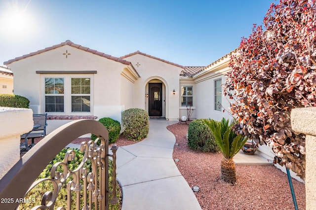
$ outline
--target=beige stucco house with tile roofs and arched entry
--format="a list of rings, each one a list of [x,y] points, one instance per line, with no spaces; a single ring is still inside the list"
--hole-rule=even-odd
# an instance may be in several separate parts
[[[230,118],[218,102],[229,105],[221,84],[233,53],[207,67],[185,67],[139,51],[117,58],[67,40],[4,65],[14,73],[14,94],[28,98],[35,114],[49,115],[49,133],[72,119],[121,121],[132,107],[167,120]]]

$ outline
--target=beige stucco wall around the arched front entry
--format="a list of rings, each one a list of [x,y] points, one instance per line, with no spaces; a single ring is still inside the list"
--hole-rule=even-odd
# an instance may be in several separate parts
[[[140,66],[135,66],[135,69],[140,74],[140,78],[135,82],[134,86],[134,106],[143,108],[148,111],[148,99],[146,99],[146,93],[148,93],[148,82],[153,79],[158,79],[163,83],[163,100],[164,104],[164,116],[169,120],[174,120],[179,117],[179,74],[180,67],[167,64],[157,59],[149,58],[144,55],[136,54],[125,58],[125,60]],[[157,81],[157,80],[154,80]],[[173,95],[173,89],[176,94]]]

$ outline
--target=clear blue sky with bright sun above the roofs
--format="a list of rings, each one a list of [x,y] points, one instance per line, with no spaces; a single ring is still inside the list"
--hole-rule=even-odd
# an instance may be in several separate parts
[[[120,57],[137,50],[206,66],[261,25],[275,0],[0,0],[0,65],[59,44]]]

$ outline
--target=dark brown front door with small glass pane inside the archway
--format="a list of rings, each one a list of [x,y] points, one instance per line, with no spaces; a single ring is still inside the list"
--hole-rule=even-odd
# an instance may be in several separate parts
[[[149,116],[162,116],[162,83],[149,83]]]

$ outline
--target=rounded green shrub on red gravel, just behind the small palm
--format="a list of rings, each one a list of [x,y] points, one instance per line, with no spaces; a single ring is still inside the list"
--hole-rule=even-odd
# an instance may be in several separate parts
[[[208,120],[208,119],[204,119]],[[190,148],[203,152],[218,152],[219,147],[209,127],[203,119],[193,120],[188,129],[188,145]]]

